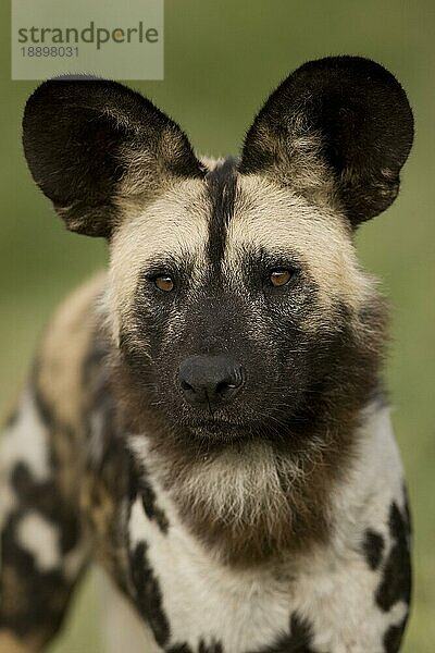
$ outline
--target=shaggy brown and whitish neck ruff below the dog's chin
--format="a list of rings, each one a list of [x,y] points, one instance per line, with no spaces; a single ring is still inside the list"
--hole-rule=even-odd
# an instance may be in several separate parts
[[[312,420],[311,431],[215,446],[179,439],[128,387],[119,408],[139,473],[156,479],[217,558],[246,567],[328,540],[331,497],[355,456],[362,406],[349,401],[330,423]]]

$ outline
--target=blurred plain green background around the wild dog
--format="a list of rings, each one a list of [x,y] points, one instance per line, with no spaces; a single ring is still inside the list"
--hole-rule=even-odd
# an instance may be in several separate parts
[[[7,4],[0,22],[2,415],[53,307],[105,260],[103,243],[64,231],[27,173],[20,122],[35,83],[10,81]],[[414,522],[408,653],[435,651],[434,27],[435,4],[424,0],[166,0],[164,82],[133,83],[181,123],[198,151],[213,156],[239,150],[261,101],[309,59],[370,57],[394,72],[408,93],[417,138],[400,197],[358,237],[361,260],[381,278],[393,306],[386,377]],[[92,581],[84,583],[77,599],[51,651],[103,653]]]

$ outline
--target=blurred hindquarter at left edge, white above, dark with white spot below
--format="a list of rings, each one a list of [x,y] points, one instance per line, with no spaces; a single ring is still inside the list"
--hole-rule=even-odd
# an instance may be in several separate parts
[[[88,553],[59,483],[54,428],[47,402],[29,384],[0,444],[0,629],[39,645],[60,627]]]

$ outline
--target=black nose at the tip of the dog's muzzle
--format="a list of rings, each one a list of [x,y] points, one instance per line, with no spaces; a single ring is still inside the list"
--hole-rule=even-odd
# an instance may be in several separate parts
[[[226,356],[191,356],[179,366],[178,379],[189,404],[215,407],[234,399],[245,374],[241,366]]]

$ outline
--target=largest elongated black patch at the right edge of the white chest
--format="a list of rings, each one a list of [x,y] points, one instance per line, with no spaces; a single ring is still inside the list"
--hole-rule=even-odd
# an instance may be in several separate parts
[[[408,605],[411,597],[409,525],[406,513],[396,502],[389,509],[388,527],[391,547],[376,590],[376,603],[384,612],[390,611],[399,601]]]

